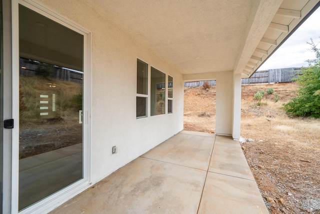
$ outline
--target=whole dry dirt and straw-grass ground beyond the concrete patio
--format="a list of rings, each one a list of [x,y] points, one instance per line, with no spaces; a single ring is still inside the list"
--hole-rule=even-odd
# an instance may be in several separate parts
[[[254,94],[273,89],[257,106]],[[239,142],[270,213],[320,213],[320,120],[281,108],[295,83],[241,87]],[[275,102],[275,94],[279,100]],[[184,88],[184,129],[214,133],[215,87]]]

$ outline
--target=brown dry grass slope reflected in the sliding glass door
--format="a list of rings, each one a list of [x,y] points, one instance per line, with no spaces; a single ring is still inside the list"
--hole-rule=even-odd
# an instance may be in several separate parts
[[[37,76],[34,77],[20,77],[20,96],[21,102],[25,106],[20,109],[20,128],[34,127],[40,119],[40,96],[51,95],[56,96],[56,111],[50,112],[46,119],[63,119],[63,120],[78,120],[78,110],[75,95],[82,94],[82,85],[74,82],[47,80]],[[56,87],[49,87],[53,85]],[[43,99],[43,98],[42,98]],[[51,103],[49,101],[49,106]],[[42,118],[45,118],[42,116]]]

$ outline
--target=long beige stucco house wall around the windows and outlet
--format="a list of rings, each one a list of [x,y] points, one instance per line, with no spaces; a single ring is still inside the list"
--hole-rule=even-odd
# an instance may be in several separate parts
[[[42,5],[91,32],[92,183],[183,129],[182,75],[77,0]],[[136,119],[136,59],[173,77],[173,113]],[[148,105],[149,106],[149,105]],[[111,154],[112,146],[117,154]]]

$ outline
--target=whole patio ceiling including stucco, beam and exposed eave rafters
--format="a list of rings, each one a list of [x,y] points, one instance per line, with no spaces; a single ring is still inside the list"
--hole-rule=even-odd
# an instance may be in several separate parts
[[[80,0],[182,74],[249,77],[319,0]]]

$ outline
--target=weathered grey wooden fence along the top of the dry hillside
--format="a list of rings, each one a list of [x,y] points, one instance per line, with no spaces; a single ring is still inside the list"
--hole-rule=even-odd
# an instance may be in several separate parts
[[[256,71],[250,78],[242,78],[242,85],[267,84],[267,83],[288,83],[293,82],[293,78],[301,75],[301,68],[280,68],[265,71]],[[215,85],[215,80],[207,81],[211,86]],[[184,87],[195,88],[202,86],[204,81],[184,82]]]

